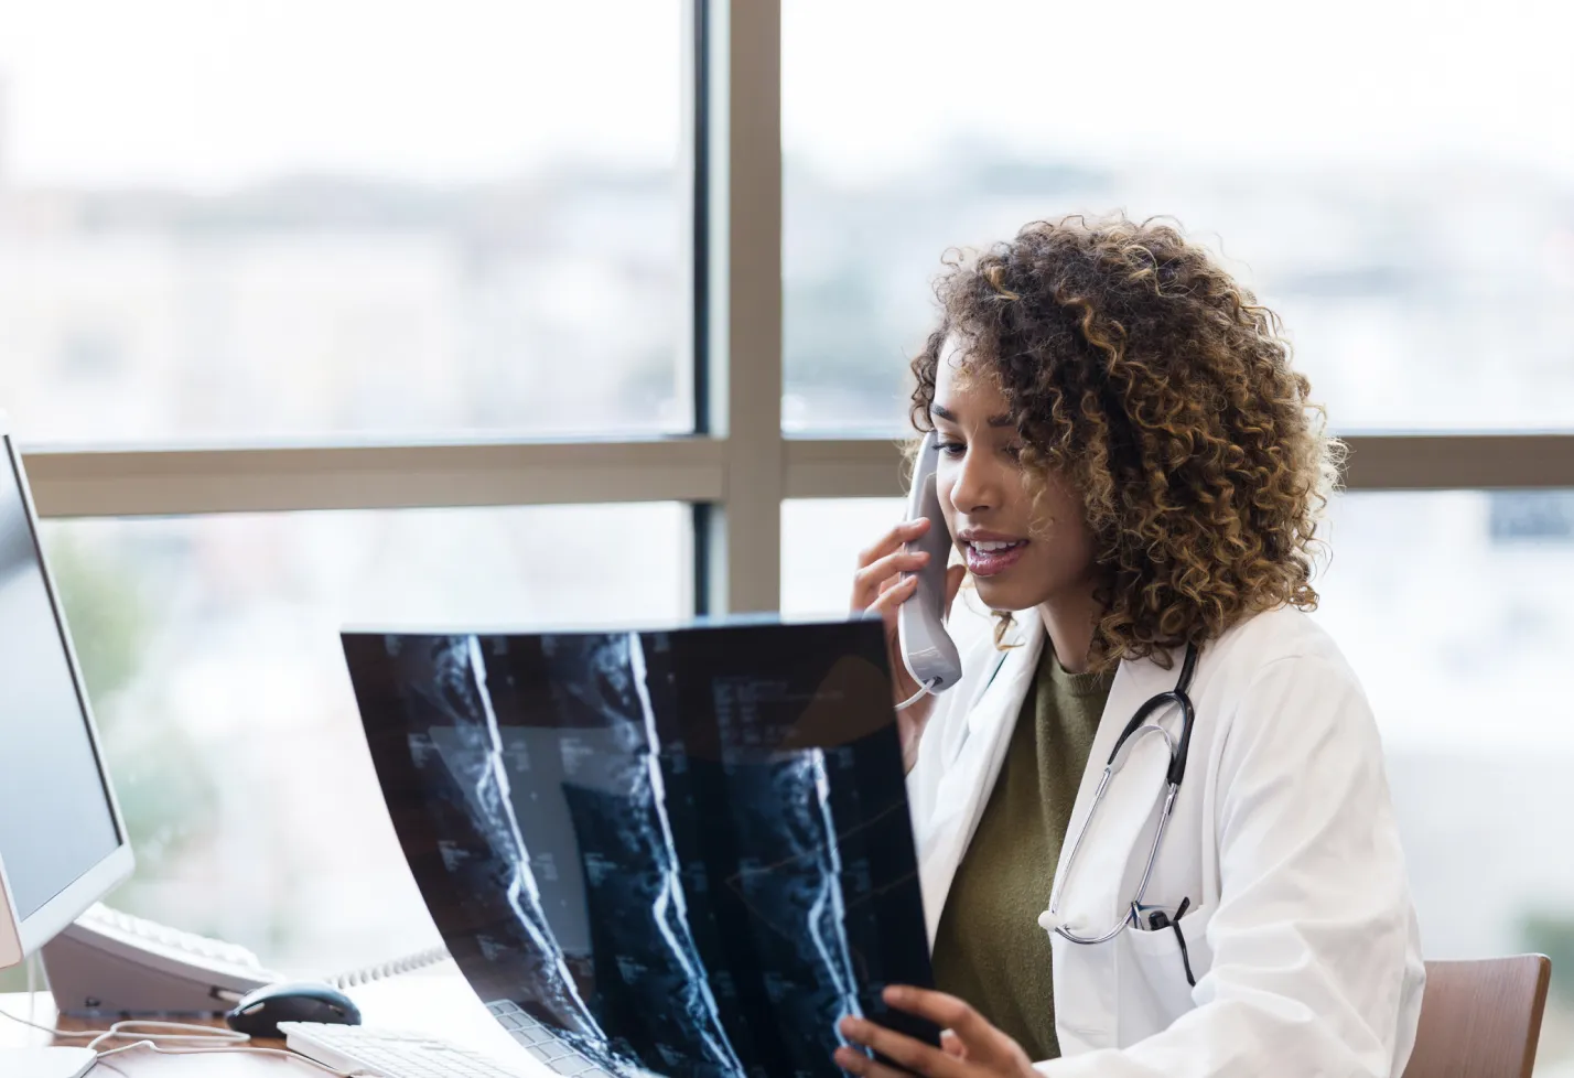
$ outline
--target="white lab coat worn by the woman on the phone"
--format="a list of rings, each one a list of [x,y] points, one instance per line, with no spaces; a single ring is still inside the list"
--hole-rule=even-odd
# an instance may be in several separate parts
[[[1045,639],[1028,612],[1014,629],[1020,647],[1001,653],[970,603],[976,596],[959,596],[952,614],[963,680],[937,699],[908,776],[930,941]],[[1144,700],[1174,688],[1174,658],[1169,670],[1143,659],[1116,672],[1056,888],[1116,738]],[[1055,1078],[1398,1078],[1424,973],[1377,729],[1354,672],[1310,617],[1280,609],[1201,648],[1192,699],[1188,765],[1146,903],[1173,913],[1192,900],[1180,927],[1196,987],[1173,930],[1129,928],[1088,946],[1053,936],[1064,1054],[1037,1069]],[[1179,733],[1176,708],[1160,714]],[[1062,897],[1072,925],[1102,935],[1127,908],[1166,763],[1160,738],[1133,744]],[[1022,932],[1044,928],[1028,917]]]

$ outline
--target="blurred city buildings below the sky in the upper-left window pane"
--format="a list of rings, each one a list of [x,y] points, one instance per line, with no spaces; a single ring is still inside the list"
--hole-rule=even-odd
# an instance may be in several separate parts
[[[678,208],[663,175],[222,197],[0,175],[0,392],[55,444],[682,430]]]

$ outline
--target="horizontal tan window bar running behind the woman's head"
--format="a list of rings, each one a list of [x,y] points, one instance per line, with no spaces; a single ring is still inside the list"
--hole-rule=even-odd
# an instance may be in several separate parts
[[[1355,434],[1346,441],[1350,491],[1574,489],[1574,434]],[[740,461],[740,444],[779,453],[778,463],[762,469]],[[770,533],[779,529],[782,497],[902,494],[896,441],[782,444],[757,431],[726,441],[30,450],[24,461],[44,516],[644,500],[732,507],[749,500],[738,483],[754,478],[771,488],[749,510],[770,518],[759,529]],[[738,524],[715,522],[711,538],[732,541],[729,529]],[[779,565],[779,549],[773,557]]]

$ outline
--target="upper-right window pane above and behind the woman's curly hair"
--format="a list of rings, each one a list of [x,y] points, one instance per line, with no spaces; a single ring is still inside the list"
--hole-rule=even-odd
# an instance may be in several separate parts
[[[1341,430],[1574,426],[1563,22],[1557,0],[782,5],[785,428],[905,430],[941,253],[1116,208],[1221,250]]]

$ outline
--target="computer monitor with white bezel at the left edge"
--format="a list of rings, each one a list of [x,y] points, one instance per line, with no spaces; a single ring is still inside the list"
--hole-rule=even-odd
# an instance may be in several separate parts
[[[0,414],[0,969],[131,875],[38,516]]]

